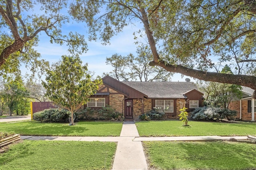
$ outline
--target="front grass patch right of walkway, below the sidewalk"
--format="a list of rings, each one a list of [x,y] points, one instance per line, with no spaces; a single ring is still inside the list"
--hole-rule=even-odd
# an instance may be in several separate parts
[[[168,170],[254,170],[256,145],[235,142],[143,142],[150,166]]]

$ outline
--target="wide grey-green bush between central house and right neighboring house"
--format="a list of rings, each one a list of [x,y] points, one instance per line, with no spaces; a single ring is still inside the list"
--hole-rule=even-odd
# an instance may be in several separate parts
[[[218,121],[226,118],[230,120],[234,116],[236,116],[236,111],[220,107],[198,107],[190,113],[190,119],[204,121]]]

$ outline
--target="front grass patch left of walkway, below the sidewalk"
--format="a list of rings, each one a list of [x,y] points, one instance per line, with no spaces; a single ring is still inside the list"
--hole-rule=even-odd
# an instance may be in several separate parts
[[[23,141],[0,154],[0,170],[109,170],[114,142]]]

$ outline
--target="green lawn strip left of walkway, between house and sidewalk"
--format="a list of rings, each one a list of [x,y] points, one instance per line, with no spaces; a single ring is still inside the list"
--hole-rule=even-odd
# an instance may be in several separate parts
[[[121,130],[122,122],[77,122],[74,126],[69,126],[68,123],[36,121],[0,123],[2,132],[36,136],[120,136]]]

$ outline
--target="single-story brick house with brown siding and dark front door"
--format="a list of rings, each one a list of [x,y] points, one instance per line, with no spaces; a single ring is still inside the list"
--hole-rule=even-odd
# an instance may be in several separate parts
[[[138,119],[154,107],[166,109],[168,118],[176,119],[185,105],[187,111],[192,111],[203,103],[203,94],[193,82],[120,82],[110,76],[102,80],[103,85],[85,107],[99,109],[109,105],[124,113],[126,119]]]

